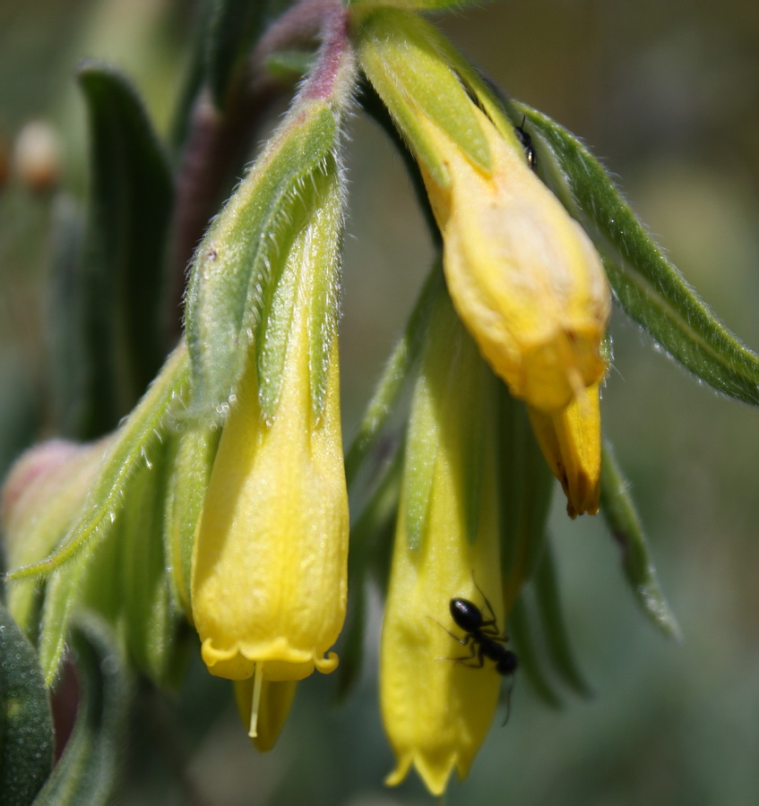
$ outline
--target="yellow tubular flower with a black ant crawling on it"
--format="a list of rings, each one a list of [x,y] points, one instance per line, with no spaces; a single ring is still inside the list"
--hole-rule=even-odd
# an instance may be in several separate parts
[[[463,637],[451,599],[469,599],[487,618],[487,596],[504,625],[490,375],[447,298],[445,307],[444,325],[459,336],[430,334],[414,395],[380,659],[384,727],[397,759],[386,783],[399,784],[413,765],[434,794],[453,768],[468,773],[501,683],[489,661],[455,662],[470,647],[449,634]],[[482,471],[479,484],[473,467]]]

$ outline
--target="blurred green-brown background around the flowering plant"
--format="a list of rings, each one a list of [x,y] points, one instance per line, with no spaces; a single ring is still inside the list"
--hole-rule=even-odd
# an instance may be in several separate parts
[[[50,224],[87,183],[75,65],[97,56],[121,67],[167,133],[193,19],[184,0],[0,4],[0,142],[12,150],[22,125],[44,118],[62,153],[58,192],[30,193],[13,174],[0,190],[0,471],[49,435]],[[759,4],[502,0],[442,24],[515,98],[582,136],[686,278],[759,350]],[[350,129],[347,437],[432,255],[401,160],[361,116]],[[549,710],[517,679],[508,725],[494,726],[449,803],[759,802],[759,412],[688,377],[618,311],[611,331],[604,430],[684,641],[644,621],[603,524],[569,522],[557,495],[566,619],[594,698]],[[392,756],[375,693],[378,625],[358,690],[335,706],[333,683],[309,680],[266,756],[250,747],[226,684],[195,665],[167,707],[177,726],[159,707],[137,715],[153,741],[185,755],[133,749],[123,802],[429,802],[413,775],[382,785]]]

